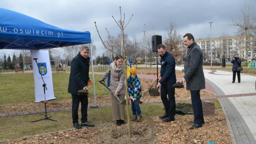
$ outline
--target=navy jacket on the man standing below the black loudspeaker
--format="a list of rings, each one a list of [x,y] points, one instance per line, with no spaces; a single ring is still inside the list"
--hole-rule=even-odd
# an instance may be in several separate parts
[[[176,83],[176,74],[175,74],[175,59],[169,52],[165,52],[164,56],[161,56],[161,79],[159,80],[160,84],[171,84]]]

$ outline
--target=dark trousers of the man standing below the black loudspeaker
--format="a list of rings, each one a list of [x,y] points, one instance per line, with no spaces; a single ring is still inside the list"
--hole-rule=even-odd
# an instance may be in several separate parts
[[[175,88],[172,88],[171,84],[161,84],[161,100],[163,101],[165,113],[170,118],[174,118],[176,113],[176,104],[175,104]],[[167,98],[168,94],[168,98]]]

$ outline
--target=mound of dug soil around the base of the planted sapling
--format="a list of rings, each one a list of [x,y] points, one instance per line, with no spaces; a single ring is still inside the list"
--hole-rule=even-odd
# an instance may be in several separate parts
[[[147,126],[131,126],[132,138],[129,137],[127,126],[112,127],[99,135],[104,144],[155,144],[157,132]]]

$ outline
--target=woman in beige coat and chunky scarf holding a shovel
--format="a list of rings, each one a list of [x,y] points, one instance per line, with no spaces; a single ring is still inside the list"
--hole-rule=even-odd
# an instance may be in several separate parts
[[[100,79],[105,80],[110,74],[110,90],[115,92],[115,95],[118,96],[120,101],[122,102],[125,97],[125,68],[123,65],[124,57],[121,55],[117,55],[114,62],[112,62],[108,70],[105,72],[104,76]],[[113,120],[116,120],[116,125],[121,126],[124,124],[125,120],[125,109],[124,105],[118,104],[117,98],[111,94],[111,101],[112,101],[112,117]]]

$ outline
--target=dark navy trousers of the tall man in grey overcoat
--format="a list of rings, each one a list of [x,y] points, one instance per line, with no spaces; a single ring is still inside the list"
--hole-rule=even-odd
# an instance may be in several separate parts
[[[202,102],[200,99],[200,90],[190,90],[191,101],[194,110],[194,124],[203,124],[204,123],[204,114]]]

